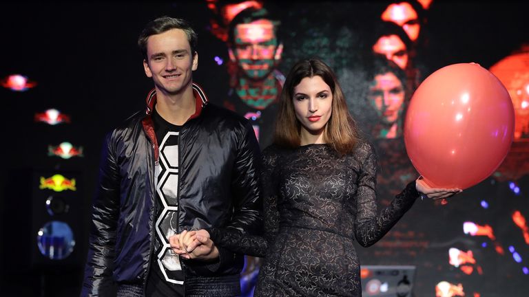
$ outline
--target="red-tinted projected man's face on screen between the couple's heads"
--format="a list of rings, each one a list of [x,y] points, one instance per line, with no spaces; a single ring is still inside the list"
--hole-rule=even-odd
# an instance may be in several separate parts
[[[248,78],[259,80],[266,77],[280,60],[282,45],[278,45],[273,23],[260,19],[236,25],[232,61],[238,64]]]

